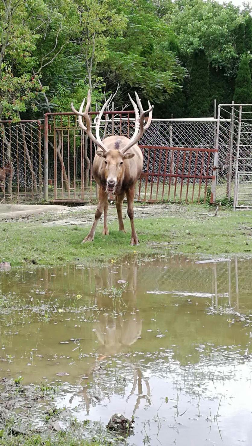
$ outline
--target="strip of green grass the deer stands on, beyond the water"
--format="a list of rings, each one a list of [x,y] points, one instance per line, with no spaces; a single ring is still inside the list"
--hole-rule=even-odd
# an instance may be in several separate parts
[[[86,219],[86,226],[50,225],[54,216],[44,215],[29,220],[0,223],[0,261],[12,266],[26,264],[59,265],[77,261],[86,263],[107,260],[132,252],[145,254],[249,254],[252,253],[252,211],[220,210],[203,206],[148,206],[148,212],[136,209],[136,230],[140,245],[130,246],[130,223],[125,219],[127,234],[118,232],[116,210],[109,209],[109,236],[103,236],[99,223],[93,243],[82,244],[94,211],[71,212],[64,217],[78,223]],[[62,215],[57,219],[62,219]],[[44,224],[49,222],[48,226]],[[60,223],[60,222],[59,222]]]

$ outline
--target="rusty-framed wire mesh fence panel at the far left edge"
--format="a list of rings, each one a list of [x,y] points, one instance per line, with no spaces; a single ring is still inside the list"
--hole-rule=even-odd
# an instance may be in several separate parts
[[[33,202],[43,194],[40,121],[0,121],[0,202]]]

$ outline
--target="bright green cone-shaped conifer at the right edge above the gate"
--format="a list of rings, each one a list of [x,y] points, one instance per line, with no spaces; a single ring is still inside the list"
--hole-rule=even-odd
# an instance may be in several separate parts
[[[234,101],[236,104],[252,103],[251,73],[249,69],[249,60],[246,54],[242,56],[237,71]]]

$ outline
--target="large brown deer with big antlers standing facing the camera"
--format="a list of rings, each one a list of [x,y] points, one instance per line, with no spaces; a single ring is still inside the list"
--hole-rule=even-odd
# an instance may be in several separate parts
[[[148,101],[149,109],[144,111],[141,100],[137,93],[136,103],[133,101],[130,95],[129,99],[135,111],[135,131],[132,138],[129,139],[126,136],[108,136],[101,140],[99,125],[104,110],[112,100],[112,95],[104,103],[99,115],[95,119],[95,136],[91,131],[91,120],[88,114],[91,105],[91,93],[90,90],[87,94],[87,105],[83,113],[83,107],[85,99],[79,108],[79,111],[75,110],[73,103],[71,103],[71,109],[75,115],[78,116],[78,124],[80,128],[87,133],[89,138],[95,143],[99,149],[95,152],[92,173],[95,182],[99,186],[99,202],[95,212],[95,220],[91,227],[91,230],[87,237],[83,240],[83,243],[91,242],[95,237],[95,230],[97,223],[104,213],[103,222],[103,235],[108,235],[107,227],[107,210],[108,210],[108,196],[114,194],[116,197],[116,210],[119,223],[119,231],[125,233],[124,222],[122,216],[122,206],[124,197],[126,195],[128,204],[128,217],[131,223],[131,245],[138,245],[139,240],[136,235],[134,226],[134,209],[133,201],[135,197],[135,185],[142,173],[143,169],[143,154],[137,145],[145,130],[149,128],[152,120],[153,105]],[[138,106],[138,107],[137,107]],[[140,116],[139,116],[139,110]],[[148,116],[148,119],[147,119]],[[83,124],[83,118],[85,124]],[[146,118],[146,119],[145,119]]]

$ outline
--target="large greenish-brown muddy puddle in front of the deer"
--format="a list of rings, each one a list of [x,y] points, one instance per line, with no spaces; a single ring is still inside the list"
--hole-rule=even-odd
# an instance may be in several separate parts
[[[180,256],[0,273],[0,378],[63,381],[79,421],[134,415],[132,445],[250,445],[251,273]]]

